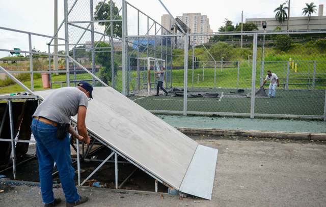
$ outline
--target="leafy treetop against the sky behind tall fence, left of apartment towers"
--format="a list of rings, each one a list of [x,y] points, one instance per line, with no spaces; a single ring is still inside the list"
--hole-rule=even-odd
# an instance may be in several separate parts
[[[95,16],[94,20],[111,20],[110,17],[110,1],[106,4],[103,2],[99,2],[98,5],[95,7]],[[116,4],[113,2],[113,18],[115,20],[121,20],[122,16],[119,15],[119,9],[116,7]],[[108,28],[111,25],[111,22],[99,22],[99,25],[104,25],[107,35],[111,35],[111,28]],[[113,22],[113,36],[122,38],[122,22],[121,21],[114,21]]]

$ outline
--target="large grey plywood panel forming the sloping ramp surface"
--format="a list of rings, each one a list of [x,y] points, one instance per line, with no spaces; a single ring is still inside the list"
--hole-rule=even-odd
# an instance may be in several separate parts
[[[46,98],[51,90],[36,92]],[[171,187],[180,188],[197,142],[111,87],[95,87],[86,125],[120,153]],[[76,117],[73,117],[76,121]]]

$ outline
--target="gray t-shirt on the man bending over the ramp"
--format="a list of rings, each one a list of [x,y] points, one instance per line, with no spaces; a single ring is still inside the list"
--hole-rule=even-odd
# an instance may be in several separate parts
[[[41,116],[57,123],[70,123],[70,116],[78,113],[79,106],[88,107],[86,94],[76,87],[62,87],[46,97],[33,116]]]

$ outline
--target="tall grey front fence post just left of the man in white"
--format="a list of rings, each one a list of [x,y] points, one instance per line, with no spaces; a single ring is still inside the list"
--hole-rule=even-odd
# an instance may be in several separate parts
[[[253,44],[253,69],[251,78],[251,102],[250,102],[250,118],[255,117],[255,93],[256,93],[256,64],[257,64],[257,34],[254,34]]]

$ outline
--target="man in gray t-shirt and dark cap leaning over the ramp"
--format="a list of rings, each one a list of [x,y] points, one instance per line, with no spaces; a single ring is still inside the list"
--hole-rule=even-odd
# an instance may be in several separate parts
[[[54,163],[59,170],[66,205],[75,206],[88,200],[86,196],[78,195],[75,187],[70,138],[66,127],[69,127],[69,133],[75,138],[87,144],[90,143],[85,119],[88,99],[93,98],[92,92],[93,86],[88,82],[80,82],[77,87],[59,88],[47,96],[33,114],[31,128],[36,140],[41,193],[45,206],[54,206],[61,202],[60,198],[53,197],[52,192]],[[70,117],[76,114],[78,114],[78,132],[70,125]]]

